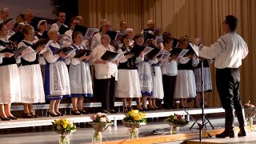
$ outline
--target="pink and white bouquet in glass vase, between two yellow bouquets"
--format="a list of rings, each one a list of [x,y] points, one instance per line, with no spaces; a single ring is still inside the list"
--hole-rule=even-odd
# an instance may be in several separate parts
[[[102,142],[102,132],[110,128],[113,125],[113,122],[110,121],[110,118],[104,113],[97,113],[90,116],[90,119],[93,122],[89,122],[91,126],[94,127],[94,134],[92,136],[93,143]]]

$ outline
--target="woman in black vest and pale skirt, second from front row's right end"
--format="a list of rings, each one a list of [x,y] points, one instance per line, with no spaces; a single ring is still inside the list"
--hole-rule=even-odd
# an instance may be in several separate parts
[[[179,47],[187,49],[189,46],[188,38],[182,37],[179,40]],[[194,98],[196,95],[196,87],[194,81],[194,67],[198,66],[199,59],[195,54],[187,54],[183,58],[178,58],[178,75],[174,98],[179,98],[180,108],[189,108],[186,105],[187,98]]]

